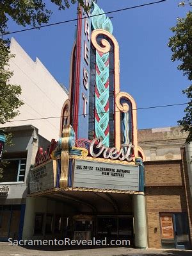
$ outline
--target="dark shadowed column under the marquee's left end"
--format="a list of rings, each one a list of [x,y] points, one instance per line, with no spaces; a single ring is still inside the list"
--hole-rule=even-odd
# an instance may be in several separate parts
[[[28,196],[26,198],[26,212],[24,218],[24,226],[22,231],[22,239],[31,239],[33,237],[35,220],[35,197]]]

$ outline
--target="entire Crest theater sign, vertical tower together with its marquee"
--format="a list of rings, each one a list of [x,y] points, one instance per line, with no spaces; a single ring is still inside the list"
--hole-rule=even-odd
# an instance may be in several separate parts
[[[143,151],[138,147],[136,103],[120,92],[119,47],[113,26],[92,1],[78,15],[70,65],[69,99],[61,137],[39,149],[30,192],[49,189],[143,192]],[[51,171],[52,170],[52,171]]]

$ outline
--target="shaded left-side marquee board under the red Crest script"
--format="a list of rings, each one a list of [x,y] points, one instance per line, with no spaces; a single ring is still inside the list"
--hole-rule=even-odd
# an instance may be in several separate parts
[[[34,167],[29,172],[29,193],[52,189],[56,184],[54,175],[54,160],[49,160],[45,164]]]

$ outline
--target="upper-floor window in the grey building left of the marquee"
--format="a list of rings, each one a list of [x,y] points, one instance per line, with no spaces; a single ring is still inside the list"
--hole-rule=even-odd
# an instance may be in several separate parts
[[[5,159],[8,164],[3,168],[3,178],[1,182],[24,182],[26,174],[27,158]]]

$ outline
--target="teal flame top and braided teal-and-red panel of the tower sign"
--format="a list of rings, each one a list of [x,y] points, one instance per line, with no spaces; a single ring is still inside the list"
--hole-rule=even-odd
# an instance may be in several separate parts
[[[94,16],[97,15],[97,16]],[[93,30],[113,33],[113,25],[106,14],[93,2]],[[95,74],[95,137],[102,137],[103,144],[109,146],[109,53],[96,50]]]

